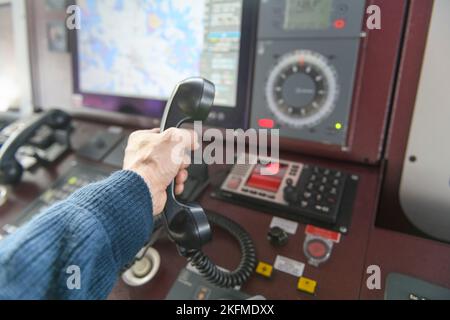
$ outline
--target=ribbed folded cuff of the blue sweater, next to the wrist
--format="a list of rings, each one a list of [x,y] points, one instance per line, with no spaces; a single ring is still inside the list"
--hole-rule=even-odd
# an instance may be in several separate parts
[[[82,188],[69,201],[86,209],[103,225],[119,268],[129,263],[150,237],[150,190],[144,179],[132,171],[116,172]]]

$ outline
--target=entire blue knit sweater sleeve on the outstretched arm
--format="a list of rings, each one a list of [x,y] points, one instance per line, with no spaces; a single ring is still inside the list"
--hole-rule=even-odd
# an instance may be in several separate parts
[[[89,185],[0,242],[0,299],[105,299],[152,224],[139,175]]]

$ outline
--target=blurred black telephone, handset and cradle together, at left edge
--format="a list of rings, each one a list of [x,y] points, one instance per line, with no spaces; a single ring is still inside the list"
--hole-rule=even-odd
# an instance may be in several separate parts
[[[54,162],[69,150],[70,123],[70,115],[60,110],[50,110],[14,123],[0,149],[0,184],[20,182],[24,166],[17,153],[24,146],[32,149],[32,156],[38,162]]]

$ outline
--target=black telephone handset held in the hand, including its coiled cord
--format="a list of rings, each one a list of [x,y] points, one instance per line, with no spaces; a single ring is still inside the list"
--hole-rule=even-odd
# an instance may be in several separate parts
[[[180,83],[167,103],[161,132],[172,126],[181,127],[192,121],[205,121],[214,103],[214,84],[202,78],[190,78]],[[201,275],[216,286],[241,286],[256,267],[256,250],[249,234],[236,222],[217,213],[206,213],[197,204],[183,204],[175,197],[175,182],[167,190],[163,220],[169,238],[177,245]],[[201,247],[211,241],[211,226],[215,224],[236,238],[242,251],[238,268],[227,272],[218,268],[203,254]]]

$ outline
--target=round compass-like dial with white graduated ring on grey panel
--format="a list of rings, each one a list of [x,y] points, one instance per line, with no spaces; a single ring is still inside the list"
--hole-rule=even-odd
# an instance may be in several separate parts
[[[280,57],[266,84],[269,109],[291,128],[312,128],[334,111],[338,74],[323,54],[298,50]]]

